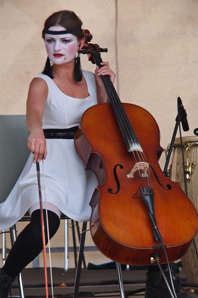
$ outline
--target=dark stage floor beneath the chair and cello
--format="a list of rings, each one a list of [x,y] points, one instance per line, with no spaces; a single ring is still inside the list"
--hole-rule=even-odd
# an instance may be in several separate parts
[[[49,269],[48,269],[49,273]],[[73,297],[76,270],[52,268],[54,298]],[[184,278],[184,274],[180,275]],[[124,291],[126,297],[144,298],[146,283],[146,270],[122,270]],[[45,298],[44,269],[24,269],[23,283],[25,298]],[[50,278],[48,280],[50,285]],[[137,291],[134,293],[132,291]],[[12,298],[19,297],[17,279],[12,285]],[[51,289],[49,286],[49,297]],[[79,297],[120,297],[116,269],[82,269],[80,279]]]

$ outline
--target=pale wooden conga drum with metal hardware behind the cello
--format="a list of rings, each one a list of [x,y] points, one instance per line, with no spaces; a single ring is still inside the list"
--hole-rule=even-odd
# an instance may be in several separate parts
[[[183,137],[182,143],[187,195],[198,211],[198,136]],[[169,146],[170,145],[168,145],[168,148]],[[176,138],[170,165],[170,179],[172,181],[180,182],[180,186],[185,192],[182,148],[180,138]],[[198,249],[198,235],[194,240]],[[182,264],[187,281],[198,284],[198,256],[195,244],[192,241],[188,252],[182,257]]]

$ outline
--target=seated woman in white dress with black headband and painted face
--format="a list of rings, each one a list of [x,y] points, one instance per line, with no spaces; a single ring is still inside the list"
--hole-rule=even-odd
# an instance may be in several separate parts
[[[81,26],[78,16],[68,10],[53,13],[44,25],[48,59],[42,74],[30,83],[27,98],[31,154],[12,192],[0,204],[0,229],[15,224],[28,210],[31,221],[18,235],[0,270],[0,298],[8,297],[17,274],[42,251],[36,161],[46,159],[42,198],[46,194],[49,238],[59,227],[61,212],[76,221],[90,219],[89,202],[98,182],[92,172],[85,171],[73,138],[83,112],[107,100],[100,75],[109,75],[114,82],[115,74],[106,62],[95,74],[82,72],[78,52],[85,39]],[[9,206],[15,206],[14,211]],[[44,216],[46,221],[45,210]]]

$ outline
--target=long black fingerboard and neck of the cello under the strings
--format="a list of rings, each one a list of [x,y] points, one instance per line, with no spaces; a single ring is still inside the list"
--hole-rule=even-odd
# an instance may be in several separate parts
[[[100,63],[102,62],[101,56],[98,52],[92,52],[96,65],[100,68]],[[103,84],[107,93],[108,102],[111,105],[113,113],[116,117],[120,132],[126,144],[127,150],[131,151],[143,151],[138,138],[133,130],[133,127],[128,119],[128,116],[123,108],[121,100],[110,80],[109,75],[101,75]]]

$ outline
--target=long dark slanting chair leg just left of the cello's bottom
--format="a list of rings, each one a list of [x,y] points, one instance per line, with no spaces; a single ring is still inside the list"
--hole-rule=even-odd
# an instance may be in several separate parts
[[[82,228],[81,240],[80,240],[79,257],[78,257],[78,265],[77,265],[77,270],[76,270],[76,279],[75,279],[75,285],[74,285],[73,298],[78,297],[80,275],[81,275],[81,268],[82,268],[82,261],[83,261],[83,251],[84,251],[84,246],[85,246],[86,228],[87,228],[87,222],[84,222],[83,228]]]

